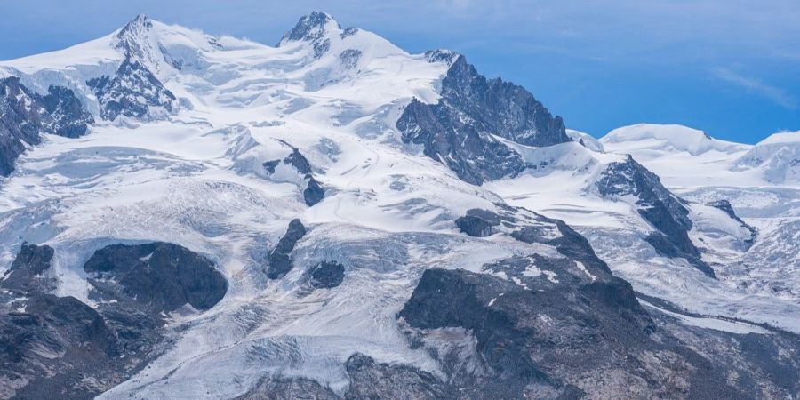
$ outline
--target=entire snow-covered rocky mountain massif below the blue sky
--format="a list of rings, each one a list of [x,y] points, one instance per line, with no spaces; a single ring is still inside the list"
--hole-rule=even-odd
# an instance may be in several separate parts
[[[139,16],[0,77],[0,397],[800,393],[792,211],[659,176],[800,199],[786,138],[592,140],[323,12],[275,47]]]

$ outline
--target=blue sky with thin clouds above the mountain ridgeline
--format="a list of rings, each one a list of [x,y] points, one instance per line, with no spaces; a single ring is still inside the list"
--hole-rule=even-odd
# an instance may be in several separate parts
[[[0,60],[107,35],[138,13],[275,44],[313,10],[409,52],[461,52],[596,136],[639,122],[749,143],[800,130],[797,0],[0,0]]]

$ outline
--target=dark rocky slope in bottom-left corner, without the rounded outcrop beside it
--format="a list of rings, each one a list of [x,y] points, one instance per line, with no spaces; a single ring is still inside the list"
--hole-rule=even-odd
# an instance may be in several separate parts
[[[92,398],[135,372],[162,339],[163,318],[143,308],[50,294],[53,254],[23,244],[0,282],[0,397]]]

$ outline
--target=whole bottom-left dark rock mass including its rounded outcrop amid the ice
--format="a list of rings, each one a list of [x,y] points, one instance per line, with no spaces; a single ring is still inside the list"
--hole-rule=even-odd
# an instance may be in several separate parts
[[[210,308],[227,288],[175,244],[112,245],[84,265],[95,309],[48,293],[52,257],[25,244],[0,281],[0,398],[92,398],[140,368],[163,339],[163,311]]]

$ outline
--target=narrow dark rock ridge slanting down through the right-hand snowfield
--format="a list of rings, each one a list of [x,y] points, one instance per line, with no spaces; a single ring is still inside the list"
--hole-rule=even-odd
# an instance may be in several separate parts
[[[702,273],[715,277],[714,269],[700,259],[700,251],[689,238],[689,210],[661,185],[657,175],[628,156],[624,163],[609,164],[596,187],[603,196],[636,196],[639,214],[656,229],[645,240],[661,255],[684,258]]]

